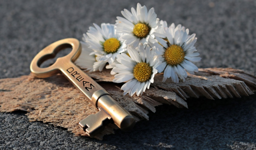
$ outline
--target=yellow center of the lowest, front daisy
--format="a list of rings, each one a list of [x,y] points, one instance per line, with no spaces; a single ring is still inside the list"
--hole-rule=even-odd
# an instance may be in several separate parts
[[[133,68],[133,76],[139,82],[148,81],[152,74],[152,67],[148,63],[137,63]]]

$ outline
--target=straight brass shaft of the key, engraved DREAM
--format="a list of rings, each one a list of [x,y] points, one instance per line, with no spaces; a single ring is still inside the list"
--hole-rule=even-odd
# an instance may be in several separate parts
[[[72,62],[64,62],[59,70],[71,83],[97,108],[103,108],[113,119],[114,123],[122,130],[130,129],[133,116],[123,109],[98,83],[85,74]]]

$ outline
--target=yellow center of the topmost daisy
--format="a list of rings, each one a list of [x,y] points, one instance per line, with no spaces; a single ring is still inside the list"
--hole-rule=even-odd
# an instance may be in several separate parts
[[[133,34],[139,37],[140,39],[146,37],[149,31],[149,26],[144,23],[138,23],[133,27]]]

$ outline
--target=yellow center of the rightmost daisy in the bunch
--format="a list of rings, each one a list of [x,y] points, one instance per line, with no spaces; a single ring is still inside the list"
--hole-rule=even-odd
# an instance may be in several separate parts
[[[183,62],[185,57],[185,52],[179,45],[171,45],[165,51],[165,60],[169,65],[178,65]]]

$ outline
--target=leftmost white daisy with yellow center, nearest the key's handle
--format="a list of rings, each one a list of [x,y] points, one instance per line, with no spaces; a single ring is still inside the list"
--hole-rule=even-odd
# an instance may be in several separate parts
[[[116,55],[126,51],[126,45],[119,40],[120,33],[116,33],[114,24],[102,23],[101,27],[93,24],[94,27],[89,27],[85,42],[88,43],[89,48],[93,49],[90,55],[99,57],[99,61],[108,61],[113,63]]]

